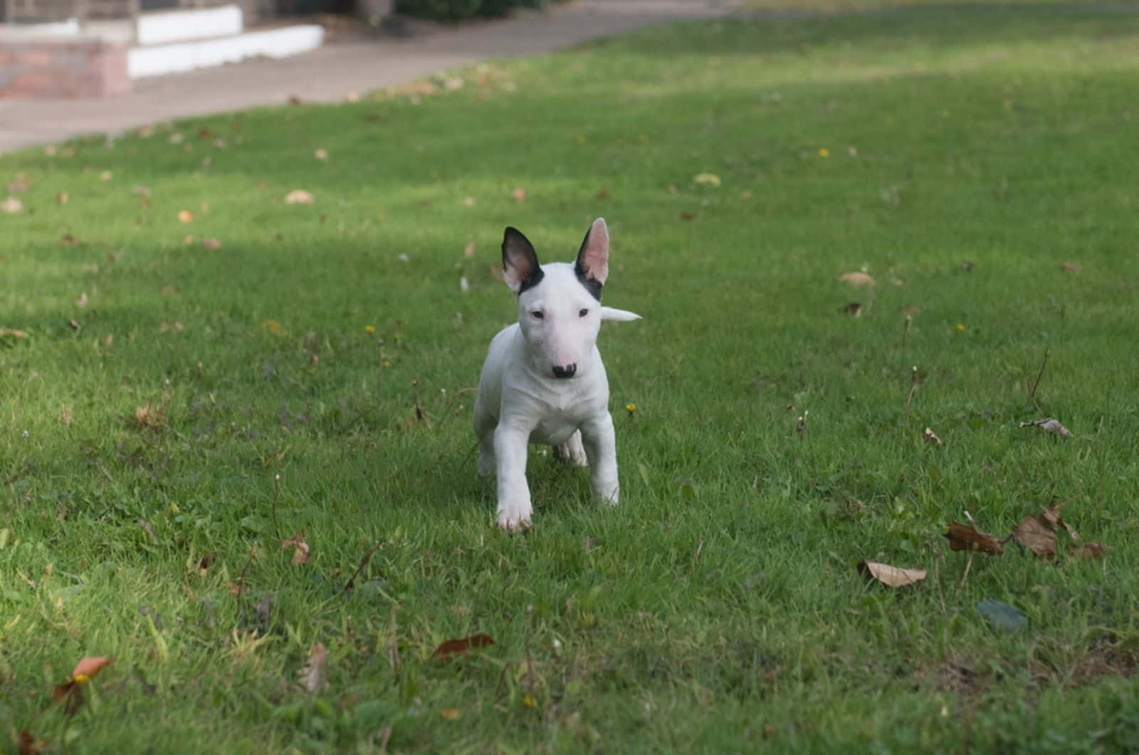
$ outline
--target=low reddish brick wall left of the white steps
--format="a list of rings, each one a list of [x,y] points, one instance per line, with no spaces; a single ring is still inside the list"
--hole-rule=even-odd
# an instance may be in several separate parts
[[[130,89],[125,44],[0,41],[0,99],[106,97]]]

